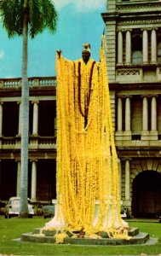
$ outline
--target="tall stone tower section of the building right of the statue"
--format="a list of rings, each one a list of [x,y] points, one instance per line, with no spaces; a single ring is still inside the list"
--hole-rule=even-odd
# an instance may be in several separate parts
[[[161,212],[161,1],[108,0],[107,67],[124,207]]]

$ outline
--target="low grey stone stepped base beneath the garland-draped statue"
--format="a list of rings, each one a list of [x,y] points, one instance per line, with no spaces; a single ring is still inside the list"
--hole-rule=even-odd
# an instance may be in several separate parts
[[[55,231],[35,229],[32,233],[22,234],[21,241],[31,241],[36,243],[55,243]],[[139,232],[137,228],[131,228],[128,232],[131,238],[129,240],[118,238],[72,238],[66,237],[63,244],[81,244],[81,245],[134,245],[144,244],[149,239],[147,233]]]

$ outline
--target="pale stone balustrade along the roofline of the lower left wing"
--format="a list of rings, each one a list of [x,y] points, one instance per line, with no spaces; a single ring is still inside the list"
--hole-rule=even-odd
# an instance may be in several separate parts
[[[56,77],[37,77],[29,78],[28,83],[30,87],[38,86],[56,86]],[[0,87],[12,88],[20,87],[22,84],[20,78],[16,79],[0,79]]]

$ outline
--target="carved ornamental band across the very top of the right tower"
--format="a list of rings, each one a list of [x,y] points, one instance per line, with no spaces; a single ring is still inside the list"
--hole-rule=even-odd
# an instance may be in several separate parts
[[[146,3],[144,4],[129,4],[129,5],[118,5],[117,6],[117,11],[121,11],[121,12],[125,12],[125,11],[129,11],[129,10],[158,10],[161,9],[161,3]]]

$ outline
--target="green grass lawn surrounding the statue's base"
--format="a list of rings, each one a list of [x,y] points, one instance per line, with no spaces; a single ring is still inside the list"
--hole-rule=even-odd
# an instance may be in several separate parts
[[[147,253],[158,255],[161,253],[161,224],[155,222],[138,221],[132,219],[129,226],[138,227],[151,237],[158,238],[153,245],[133,246],[83,246],[83,245],[56,245],[38,244],[16,241],[20,235],[32,232],[34,228],[43,227],[49,221],[43,218],[21,219],[0,218],[0,254],[14,255],[141,255]]]

